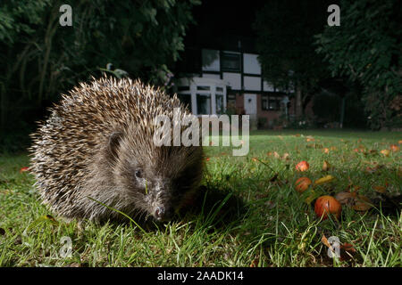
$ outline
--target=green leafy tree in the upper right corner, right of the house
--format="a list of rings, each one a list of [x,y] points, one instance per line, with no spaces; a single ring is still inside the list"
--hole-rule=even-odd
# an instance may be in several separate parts
[[[402,126],[402,45],[398,0],[340,2],[340,26],[316,36],[317,52],[332,76],[346,76],[364,86],[371,127]]]

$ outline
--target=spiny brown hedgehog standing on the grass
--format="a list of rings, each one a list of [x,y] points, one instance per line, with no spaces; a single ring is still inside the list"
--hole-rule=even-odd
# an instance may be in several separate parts
[[[176,94],[139,79],[92,77],[62,94],[31,134],[30,170],[43,203],[67,219],[171,219],[203,173],[202,146],[154,143],[153,120],[172,121],[174,108],[191,115]]]

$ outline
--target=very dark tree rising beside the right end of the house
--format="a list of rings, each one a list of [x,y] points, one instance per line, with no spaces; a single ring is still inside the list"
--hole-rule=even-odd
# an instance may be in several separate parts
[[[296,91],[296,115],[301,116],[326,77],[322,57],[314,52],[314,35],[326,23],[328,1],[270,1],[256,12],[256,48],[264,79]]]

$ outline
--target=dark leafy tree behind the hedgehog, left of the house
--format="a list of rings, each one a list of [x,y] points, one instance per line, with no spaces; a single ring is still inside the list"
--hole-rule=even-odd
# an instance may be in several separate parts
[[[80,80],[113,63],[130,77],[163,85],[184,49],[198,0],[73,0],[72,27],[57,0],[0,3],[0,123],[10,126]],[[29,118],[28,118],[29,117]],[[1,128],[0,126],[0,128]]]

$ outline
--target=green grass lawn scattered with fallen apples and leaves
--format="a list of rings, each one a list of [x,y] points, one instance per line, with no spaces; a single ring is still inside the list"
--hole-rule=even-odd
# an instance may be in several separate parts
[[[400,140],[401,133],[258,131],[250,135],[246,157],[232,157],[229,147],[205,148],[203,213],[151,229],[129,220],[67,223],[41,205],[33,178],[20,172],[28,166],[26,154],[2,155],[0,266],[400,267],[402,151],[381,153],[390,144],[401,147]],[[300,173],[295,166],[302,160],[310,168]],[[327,171],[324,160],[332,166]],[[295,190],[297,178],[325,175],[334,180]],[[306,202],[347,189],[374,207],[342,205],[339,221],[320,221],[314,202]],[[214,197],[227,193],[214,205]],[[341,258],[328,256],[325,238],[331,237],[342,245]]]

